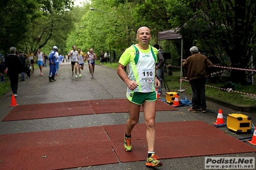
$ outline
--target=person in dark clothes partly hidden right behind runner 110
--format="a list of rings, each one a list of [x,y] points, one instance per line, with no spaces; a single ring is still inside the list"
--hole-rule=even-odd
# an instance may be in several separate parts
[[[157,78],[160,81],[160,77],[164,74],[164,56],[163,52],[160,49],[160,46],[158,43],[154,45],[154,47],[157,49],[157,63],[155,64],[155,69],[157,70]],[[157,91],[159,96],[162,96],[162,84],[160,83],[160,86]]]

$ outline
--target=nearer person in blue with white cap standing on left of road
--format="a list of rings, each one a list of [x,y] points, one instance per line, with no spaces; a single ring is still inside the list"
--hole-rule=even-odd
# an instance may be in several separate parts
[[[49,71],[49,82],[54,82],[56,81],[55,79],[55,63],[56,63],[56,58],[58,58],[58,47],[53,46],[53,50],[51,51],[51,53],[49,54],[49,67],[50,67],[50,71]]]

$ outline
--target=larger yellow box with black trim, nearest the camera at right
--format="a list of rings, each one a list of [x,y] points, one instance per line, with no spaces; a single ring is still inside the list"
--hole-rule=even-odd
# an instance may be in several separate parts
[[[237,133],[251,133],[252,118],[244,114],[232,113],[226,117],[226,127]]]

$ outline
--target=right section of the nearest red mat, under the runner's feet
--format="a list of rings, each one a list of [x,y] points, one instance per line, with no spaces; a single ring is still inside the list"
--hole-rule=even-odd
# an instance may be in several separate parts
[[[104,126],[121,162],[145,160],[147,153],[146,127],[136,125],[132,132],[133,151],[123,149],[125,125]],[[155,151],[160,158],[196,157],[246,153],[256,148],[226,135],[202,121],[156,123]]]

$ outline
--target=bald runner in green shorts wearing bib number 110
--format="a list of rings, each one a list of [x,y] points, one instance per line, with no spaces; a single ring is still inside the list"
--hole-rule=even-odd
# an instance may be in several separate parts
[[[137,31],[138,43],[124,51],[119,59],[117,73],[126,83],[126,97],[128,99],[129,119],[126,121],[124,134],[124,150],[132,151],[132,130],[139,121],[142,105],[146,123],[146,139],[148,143],[148,158],[146,166],[162,166],[162,162],[155,155],[155,116],[157,95],[155,88],[160,82],[155,77],[155,63],[157,49],[149,45],[151,33],[148,27],[140,27]],[[128,76],[124,66],[128,65]]]

